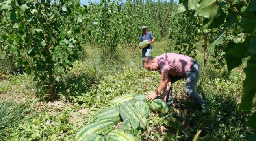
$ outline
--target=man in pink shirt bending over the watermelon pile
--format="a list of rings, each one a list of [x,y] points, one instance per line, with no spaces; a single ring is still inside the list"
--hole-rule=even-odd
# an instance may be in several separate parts
[[[153,101],[163,90],[163,95],[160,98],[169,107],[172,106],[173,95],[171,85],[182,78],[186,78],[184,92],[195,104],[199,106],[206,105],[201,96],[195,91],[200,66],[189,56],[176,53],[162,54],[156,58],[149,56],[143,59],[143,66],[149,71],[158,71],[161,74],[161,80],[156,91],[145,97],[148,101]]]

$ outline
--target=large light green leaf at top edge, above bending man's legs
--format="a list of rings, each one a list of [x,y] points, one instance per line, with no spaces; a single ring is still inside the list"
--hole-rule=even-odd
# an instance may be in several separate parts
[[[204,18],[214,19],[221,13],[217,0],[201,0],[201,3],[197,5],[196,13]]]

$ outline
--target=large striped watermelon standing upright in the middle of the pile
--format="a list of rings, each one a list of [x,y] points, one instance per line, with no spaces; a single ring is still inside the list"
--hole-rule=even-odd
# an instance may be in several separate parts
[[[125,101],[119,106],[119,114],[123,120],[134,118],[139,121],[141,130],[147,129],[147,119],[131,101]]]

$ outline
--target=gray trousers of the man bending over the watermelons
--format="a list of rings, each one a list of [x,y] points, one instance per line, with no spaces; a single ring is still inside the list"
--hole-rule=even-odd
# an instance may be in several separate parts
[[[172,76],[170,74],[169,76],[171,78],[171,84],[175,83],[178,80],[181,80],[182,78],[186,78],[186,83],[184,87],[185,94],[187,94],[187,96],[189,96],[189,98],[191,98],[195,102],[195,104],[206,105],[202,97],[195,91],[199,73],[200,66],[198,63],[195,63],[195,65],[187,71],[185,76]],[[167,94],[166,103],[168,105],[171,105],[173,103],[172,87]]]

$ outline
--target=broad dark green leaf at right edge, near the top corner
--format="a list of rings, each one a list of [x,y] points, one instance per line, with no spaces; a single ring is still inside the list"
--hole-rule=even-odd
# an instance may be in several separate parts
[[[256,15],[252,12],[247,13],[237,25],[247,32],[254,34],[256,32]]]

